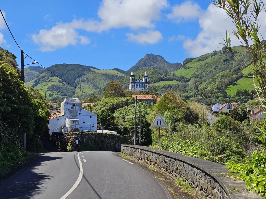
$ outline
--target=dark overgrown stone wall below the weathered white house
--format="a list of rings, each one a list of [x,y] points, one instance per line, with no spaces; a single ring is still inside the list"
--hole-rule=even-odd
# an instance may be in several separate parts
[[[128,144],[127,136],[89,131],[53,132],[50,138],[63,151],[121,151],[121,144]],[[79,140],[78,144],[76,140]]]

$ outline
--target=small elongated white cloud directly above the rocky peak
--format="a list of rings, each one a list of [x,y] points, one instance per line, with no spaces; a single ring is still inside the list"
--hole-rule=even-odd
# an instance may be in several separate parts
[[[157,30],[149,30],[142,33],[126,33],[128,40],[131,42],[137,42],[140,44],[156,44],[163,39],[162,33]]]

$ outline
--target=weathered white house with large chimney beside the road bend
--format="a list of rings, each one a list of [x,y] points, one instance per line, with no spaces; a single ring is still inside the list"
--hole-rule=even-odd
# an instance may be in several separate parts
[[[61,113],[48,118],[49,133],[73,131],[97,131],[97,115],[82,108],[77,98],[65,98]]]

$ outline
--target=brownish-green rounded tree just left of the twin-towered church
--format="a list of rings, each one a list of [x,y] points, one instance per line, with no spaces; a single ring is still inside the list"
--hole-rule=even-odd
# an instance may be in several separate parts
[[[125,97],[123,85],[115,80],[110,81],[104,91],[104,97]]]

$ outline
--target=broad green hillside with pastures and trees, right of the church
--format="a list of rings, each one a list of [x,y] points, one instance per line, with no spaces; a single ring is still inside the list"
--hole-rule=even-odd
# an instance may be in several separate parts
[[[157,85],[160,92],[167,89],[178,91],[185,99],[202,99],[205,102],[246,102],[252,98],[248,96],[235,96],[237,90],[254,90],[253,79],[250,76],[252,69],[251,59],[246,54],[245,46],[232,47],[234,55],[226,50],[213,51],[196,58],[186,58],[176,75],[191,78],[188,83]]]

